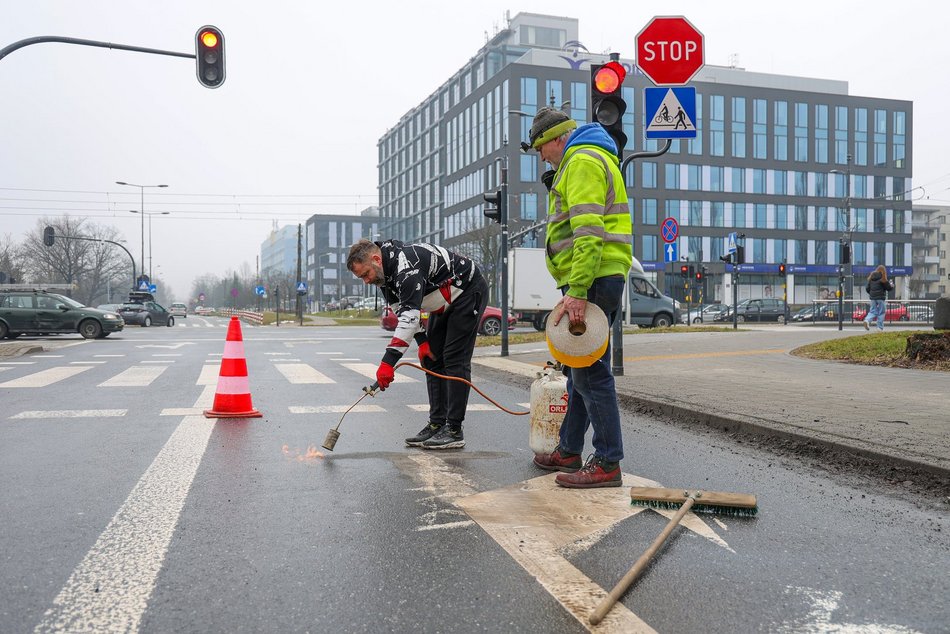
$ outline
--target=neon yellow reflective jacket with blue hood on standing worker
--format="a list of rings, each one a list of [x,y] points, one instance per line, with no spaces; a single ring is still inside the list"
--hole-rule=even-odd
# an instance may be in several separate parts
[[[587,299],[598,277],[626,278],[633,227],[616,145],[599,123],[579,127],[564,148],[548,195],[548,271],[571,297]]]

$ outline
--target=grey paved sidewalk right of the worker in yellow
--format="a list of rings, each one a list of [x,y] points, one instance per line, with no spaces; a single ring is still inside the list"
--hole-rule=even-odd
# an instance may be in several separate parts
[[[690,422],[814,443],[950,478],[950,373],[795,357],[799,346],[861,327],[752,326],[738,332],[626,335],[622,402]],[[474,361],[534,377],[544,343]]]

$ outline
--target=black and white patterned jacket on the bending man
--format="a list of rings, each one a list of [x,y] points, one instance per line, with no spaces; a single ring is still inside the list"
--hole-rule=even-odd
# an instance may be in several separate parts
[[[481,277],[469,258],[425,242],[377,242],[383,256],[380,287],[398,322],[383,361],[395,365],[409,347],[409,340],[425,341],[420,320],[423,311],[440,314]]]

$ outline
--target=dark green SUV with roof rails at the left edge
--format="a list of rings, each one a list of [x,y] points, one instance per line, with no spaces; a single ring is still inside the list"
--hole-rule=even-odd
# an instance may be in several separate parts
[[[102,339],[124,326],[116,313],[83,306],[63,295],[39,290],[0,291],[0,339],[61,332]]]

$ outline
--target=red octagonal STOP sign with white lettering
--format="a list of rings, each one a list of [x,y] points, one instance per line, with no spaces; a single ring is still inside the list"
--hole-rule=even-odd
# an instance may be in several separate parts
[[[703,56],[703,34],[681,15],[657,16],[637,34],[637,66],[657,86],[685,84]]]

